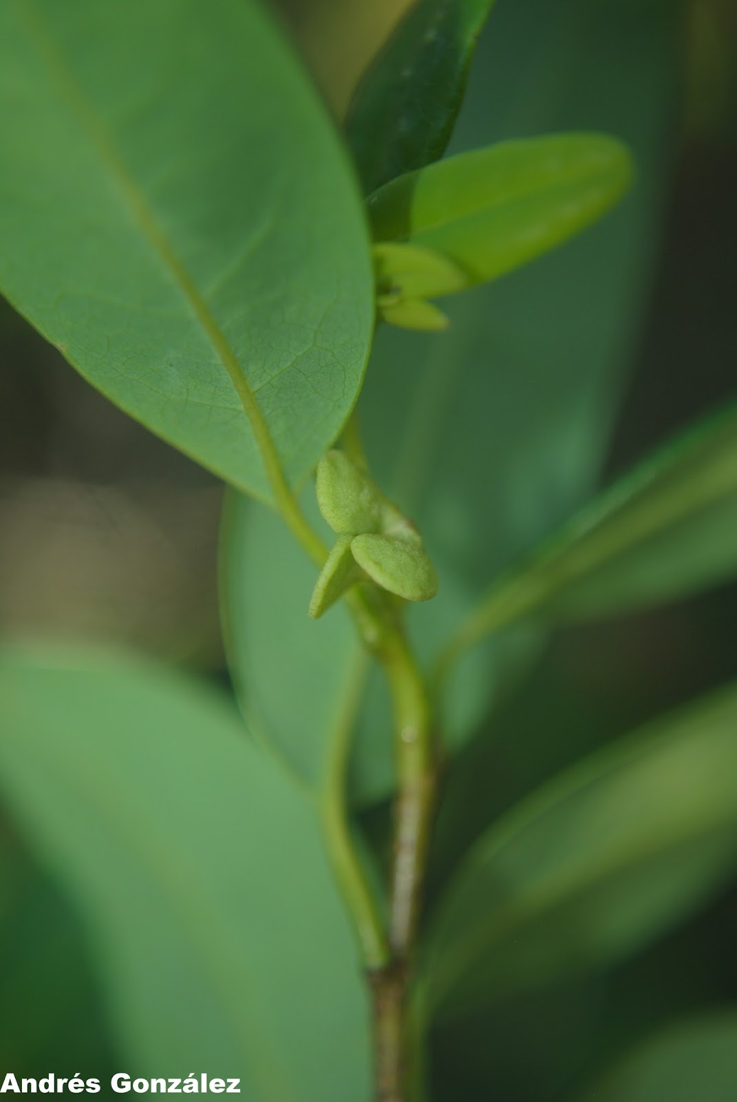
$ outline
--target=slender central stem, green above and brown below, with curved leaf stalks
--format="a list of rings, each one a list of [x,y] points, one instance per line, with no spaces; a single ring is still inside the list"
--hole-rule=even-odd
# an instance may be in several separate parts
[[[357,425],[354,422],[354,430]],[[360,451],[357,431],[354,446]],[[307,554],[321,565],[327,551],[283,479],[271,478],[278,509]],[[281,482],[281,485],[280,485]],[[344,802],[350,721],[342,722],[333,748],[322,810],[336,879],[351,916],[373,1003],[376,1102],[409,1102],[409,1020],[412,969],[430,832],[435,807],[435,752],[430,695],[392,604],[357,586],[346,604],[365,648],[381,663],[392,698],[398,791],[391,868],[389,936],[350,836]],[[354,701],[349,702],[353,707]],[[353,712],[351,712],[353,715]]]

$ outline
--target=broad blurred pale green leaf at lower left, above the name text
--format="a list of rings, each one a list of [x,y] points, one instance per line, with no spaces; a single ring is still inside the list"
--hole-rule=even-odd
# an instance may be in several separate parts
[[[131,661],[3,651],[0,787],[84,920],[138,1074],[368,1096],[367,1013],[315,807],[229,702]]]

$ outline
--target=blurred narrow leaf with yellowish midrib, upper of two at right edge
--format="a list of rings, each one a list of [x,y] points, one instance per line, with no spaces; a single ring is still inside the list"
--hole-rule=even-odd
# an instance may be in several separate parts
[[[447,658],[489,631],[626,613],[737,571],[737,409],[682,434],[502,574]]]

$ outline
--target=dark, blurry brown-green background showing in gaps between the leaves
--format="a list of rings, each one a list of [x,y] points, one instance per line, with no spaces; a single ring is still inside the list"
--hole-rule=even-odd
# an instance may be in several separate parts
[[[498,7],[524,2],[499,0]],[[402,4],[283,0],[282,7],[339,115],[357,72]],[[662,238],[605,478],[737,397],[737,6],[693,0],[682,7]],[[522,64],[523,36],[518,48]],[[620,77],[626,88],[627,56]],[[97,395],[0,304],[3,636],[121,642],[223,679],[220,499],[215,478]],[[462,755],[438,834],[435,878],[532,784],[607,737],[734,678],[736,624],[731,584],[651,613],[557,633],[532,688],[496,717],[494,738],[481,732]],[[490,775],[489,795],[483,778]],[[463,815],[454,813],[460,806]],[[100,1051],[97,1004],[78,983],[85,954],[64,903],[29,866],[10,827],[0,830],[8,888],[0,919],[12,916],[10,933],[22,931],[12,943],[22,941],[26,953],[14,953],[4,970],[2,1004],[13,1011],[0,1033],[0,1058],[12,1051],[20,1073],[24,1054],[32,1066],[42,1049],[51,1066],[57,1050],[66,1067],[69,1051],[84,1059],[78,1049],[87,1041]],[[736,1000],[735,915],[737,883],[614,972],[445,1027],[434,1055],[438,1098],[564,1096],[588,1067],[648,1023]],[[86,1009],[77,1022],[88,1013],[86,1040],[78,1028],[65,1037],[56,1014],[44,1025],[44,1007],[64,990],[83,992]]]

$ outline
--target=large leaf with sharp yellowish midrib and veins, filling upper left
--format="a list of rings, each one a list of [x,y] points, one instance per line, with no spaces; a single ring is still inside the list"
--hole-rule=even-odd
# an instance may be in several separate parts
[[[360,388],[371,264],[326,111],[256,0],[3,3],[0,108],[2,293],[224,478],[267,499],[264,462],[302,478]]]

